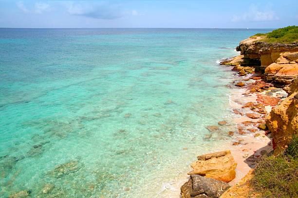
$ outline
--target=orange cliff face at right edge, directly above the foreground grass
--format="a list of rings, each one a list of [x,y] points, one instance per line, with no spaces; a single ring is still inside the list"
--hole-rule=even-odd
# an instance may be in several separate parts
[[[298,133],[298,78],[287,89],[289,97],[272,109],[266,124],[273,134],[274,154],[278,155]]]

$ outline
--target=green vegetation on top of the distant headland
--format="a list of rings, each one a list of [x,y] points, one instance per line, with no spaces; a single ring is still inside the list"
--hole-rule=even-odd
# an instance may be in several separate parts
[[[260,41],[268,43],[291,43],[298,41],[298,26],[279,28],[270,33],[257,33],[251,36],[251,38],[257,38],[258,36],[261,36]]]

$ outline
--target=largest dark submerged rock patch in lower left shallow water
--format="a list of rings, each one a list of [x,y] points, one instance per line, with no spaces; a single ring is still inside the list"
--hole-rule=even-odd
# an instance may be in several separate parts
[[[74,173],[78,171],[81,168],[79,163],[77,161],[71,161],[69,163],[63,164],[63,165],[57,165],[54,170],[51,170],[46,175],[60,178],[64,175],[68,175],[70,173]]]

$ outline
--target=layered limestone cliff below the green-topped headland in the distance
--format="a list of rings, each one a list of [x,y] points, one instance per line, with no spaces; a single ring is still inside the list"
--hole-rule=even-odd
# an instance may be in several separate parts
[[[267,43],[248,38],[236,48],[242,54],[241,66],[263,70],[268,81],[290,84],[298,76],[298,43]]]

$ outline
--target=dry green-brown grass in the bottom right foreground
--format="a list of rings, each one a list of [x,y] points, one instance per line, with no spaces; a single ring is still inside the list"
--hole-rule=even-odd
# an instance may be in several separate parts
[[[298,137],[278,157],[262,157],[250,184],[262,198],[298,198]]]

